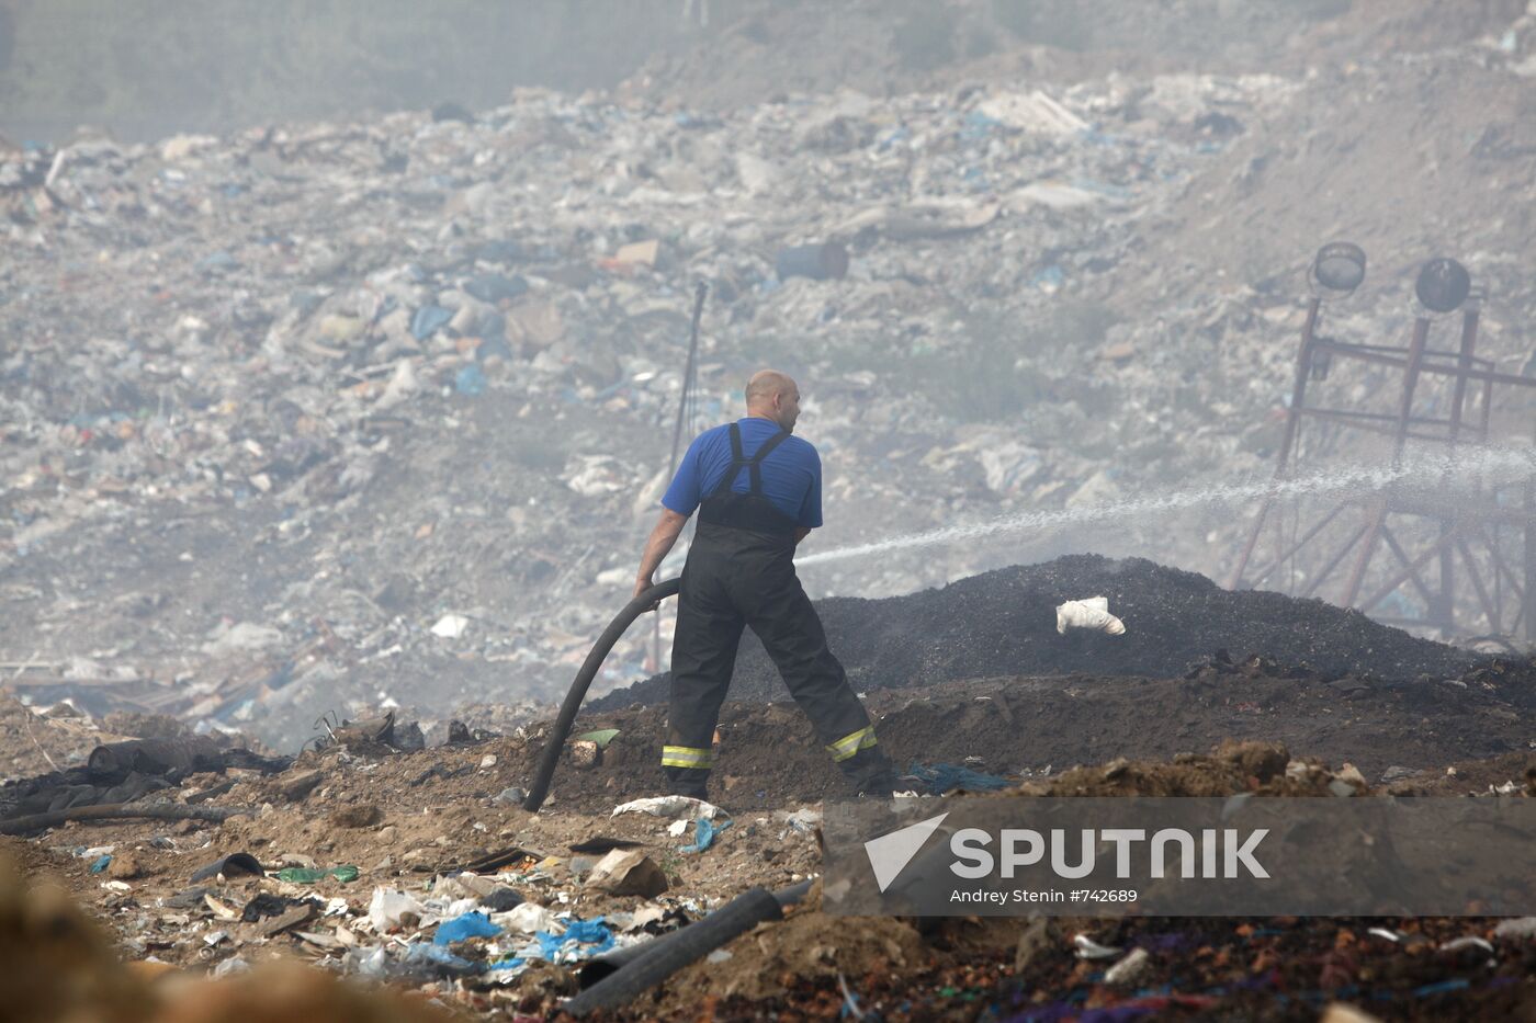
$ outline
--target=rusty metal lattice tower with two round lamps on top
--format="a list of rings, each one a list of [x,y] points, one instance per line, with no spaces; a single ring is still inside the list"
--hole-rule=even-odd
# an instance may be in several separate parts
[[[1301,327],[1296,373],[1275,479],[1299,475],[1306,458],[1347,450],[1355,438],[1385,438],[1378,450],[1395,467],[1415,452],[1488,445],[1498,389],[1536,387],[1536,379],[1501,373],[1476,355],[1481,295],[1455,260],[1424,264],[1418,310],[1405,347],[1346,343],[1319,333],[1327,300],[1353,292],[1366,276],[1366,253],[1347,243],[1324,246],[1312,263],[1312,296]],[[1432,346],[1436,329],[1455,324],[1455,349]],[[1341,404],[1312,390],[1341,364],[1372,367],[1376,387],[1356,386]],[[1381,375],[1385,375],[1382,378]],[[1327,392],[1335,402],[1339,396]],[[1370,398],[1390,398],[1372,410]],[[1319,444],[1303,449],[1307,430]],[[1362,438],[1364,435],[1364,438]],[[1505,438],[1510,441],[1513,438]],[[1528,444],[1528,438],[1521,438]],[[1350,453],[1359,455],[1358,450]],[[1295,596],[1329,596],[1378,621],[1452,634],[1536,639],[1536,518],[1533,484],[1473,485],[1445,493],[1433,479],[1393,485],[1295,515],[1287,535],[1276,498],[1258,510],[1230,587],[1279,588]],[[1347,565],[1342,574],[1339,568]]]

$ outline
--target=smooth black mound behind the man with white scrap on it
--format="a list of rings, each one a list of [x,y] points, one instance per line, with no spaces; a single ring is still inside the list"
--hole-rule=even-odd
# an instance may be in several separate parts
[[[1100,594],[1124,621],[1124,636],[1055,631],[1058,604]],[[831,598],[817,610],[833,651],[860,690],[1071,673],[1169,677],[1218,650],[1269,654],[1324,677],[1445,677],[1478,662],[1475,654],[1416,639],[1358,611],[1278,593],[1232,593],[1204,576],[1141,558],[1074,555],[908,596]],[[660,674],[636,682],[591,707],[616,710],[665,700],[668,680]],[[785,697],[777,670],[748,631],[731,699]]]

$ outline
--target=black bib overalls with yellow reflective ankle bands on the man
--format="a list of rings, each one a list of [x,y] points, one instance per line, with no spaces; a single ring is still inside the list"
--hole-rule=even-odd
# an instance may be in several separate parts
[[[750,625],[790,694],[854,788],[889,794],[894,773],[876,747],[869,716],[826,648],[826,633],[794,574],[796,522],[763,496],[762,461],[788,433],[742,452],[731,424],[731,467],[699,507],[699,528],[682,570],[673,636],[671,716],[662,770],[673,793],[705,797],[714,766],[711,739],[731,684],[742,628]],[[748,493],[731,485],[750,473]]]

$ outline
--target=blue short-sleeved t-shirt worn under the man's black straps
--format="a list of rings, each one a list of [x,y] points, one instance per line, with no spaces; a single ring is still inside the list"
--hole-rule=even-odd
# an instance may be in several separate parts
[[[748,416],[739,419],[742,429],[742,456],[751,458],[768,438],[779,433],[779,424],[770,419]],[[688,453],[677,465],[677,475],[662,504],[677,515],[693,515],[699,502],[714,493],[731,467],[731,427],[717,425],[705,430],[688,445]],[[785,438],[779,447],[768,452],[762,461],[760,475],[763,496],[776,508],[788,515],[797,525],[817,528],[822,525],[822,458],[809,441],[797,436]],[[736,473],[731,490],[750,493],[753,475],[746,468]]]

